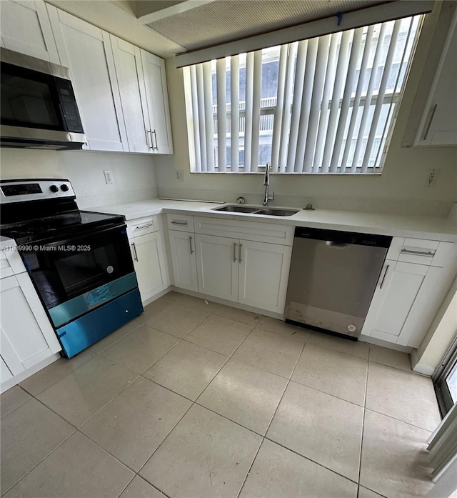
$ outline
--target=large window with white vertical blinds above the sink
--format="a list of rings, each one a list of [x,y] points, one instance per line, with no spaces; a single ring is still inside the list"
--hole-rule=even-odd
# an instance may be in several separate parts
[[[421,19],[185,67],[191,171],[381,173]]]

